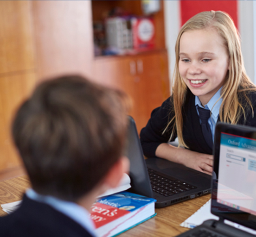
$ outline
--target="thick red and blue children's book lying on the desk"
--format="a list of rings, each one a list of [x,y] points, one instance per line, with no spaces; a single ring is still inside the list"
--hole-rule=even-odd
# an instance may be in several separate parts
[[[156,200],[121,192],[98,199],[90,211],[99,237],[113,237],[155,215]]]

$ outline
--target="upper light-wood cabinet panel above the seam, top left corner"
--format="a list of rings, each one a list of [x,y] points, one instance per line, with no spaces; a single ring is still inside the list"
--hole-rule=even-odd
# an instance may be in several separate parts
[[[31,3],[0,1],[0,76],[35,68]]]

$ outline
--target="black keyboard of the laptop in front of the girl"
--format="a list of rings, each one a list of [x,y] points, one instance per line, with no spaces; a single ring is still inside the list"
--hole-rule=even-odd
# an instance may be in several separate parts
[[[169,178],[166,178],[164,176],[161,176],[153,169],[148,168],[147,171],[153,191],[156,193],[160,193],[163,196],[168,197],[177,193],[183,193],[191,189],[197,188],[175,178],[169,176]]]

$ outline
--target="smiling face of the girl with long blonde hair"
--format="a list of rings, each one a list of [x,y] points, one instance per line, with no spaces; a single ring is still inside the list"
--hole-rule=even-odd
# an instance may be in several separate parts
[[[186,31],[179,42],[179,74],[202,105],[223,86],[229,69],[224,40],[211,29]]]

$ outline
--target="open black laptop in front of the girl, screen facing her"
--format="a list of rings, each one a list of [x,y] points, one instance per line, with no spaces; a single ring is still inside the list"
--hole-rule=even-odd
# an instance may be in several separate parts
[[[144,160],[134,119],[129,118],[125,155],[130,160],[134,193],[156,199],[155,207],[165,207],[210,193],[211,176],[161,158]]]

